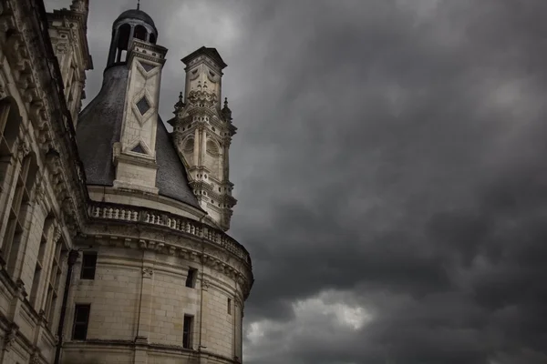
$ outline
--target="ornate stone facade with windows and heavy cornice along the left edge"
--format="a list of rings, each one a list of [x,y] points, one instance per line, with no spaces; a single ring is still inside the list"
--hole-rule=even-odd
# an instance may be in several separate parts
[[[2,363],[53,362],[66,253],[86,217],[76,109],[60,102],[62,77],[46,29],[43,3],[1,2]]]

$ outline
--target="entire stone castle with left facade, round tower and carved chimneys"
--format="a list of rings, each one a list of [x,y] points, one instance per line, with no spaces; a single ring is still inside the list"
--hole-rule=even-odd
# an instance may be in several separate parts
[[[0,0],[0,363],[239,363],[253,271],[226,233],[226,64],[182,58],[169,132],[167,49],[130,9],[82,110],[87,23],[88,0]]]

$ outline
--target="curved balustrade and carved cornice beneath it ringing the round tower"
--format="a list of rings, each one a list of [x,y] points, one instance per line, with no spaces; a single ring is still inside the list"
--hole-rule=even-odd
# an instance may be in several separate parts
[[[80,238],[201,261],[238,280],[245,297],[253,281],[251,257],[235,239],[205,223],[151,208],[90,202],[89,223]]]

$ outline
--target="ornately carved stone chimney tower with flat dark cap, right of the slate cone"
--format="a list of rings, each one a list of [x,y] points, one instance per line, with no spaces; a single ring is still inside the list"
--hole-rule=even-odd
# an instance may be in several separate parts
[[[190,185],[200,206],[223,230],[230,228],[233,184],[230,182],[230,145],[236,127],[232,111],[222,100],[222,69],[226,64],[216,49],[201,47],[182,59],[186,65],[184,100],[175,105],[170,120],[173,136],[188,168]]]

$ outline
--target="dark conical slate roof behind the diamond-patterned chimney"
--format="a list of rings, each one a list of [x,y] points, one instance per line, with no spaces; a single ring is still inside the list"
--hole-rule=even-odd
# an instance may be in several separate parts
[[[116,171],[112,162],[112,146],[119,142],[128,75],[126,65],[107,68],[98,96],[78,116],[77,147],[88,185],[113,186]],[[160,189],[160,195],[201,209],[160,116],[156,133],[156,162],[156,187]]]

